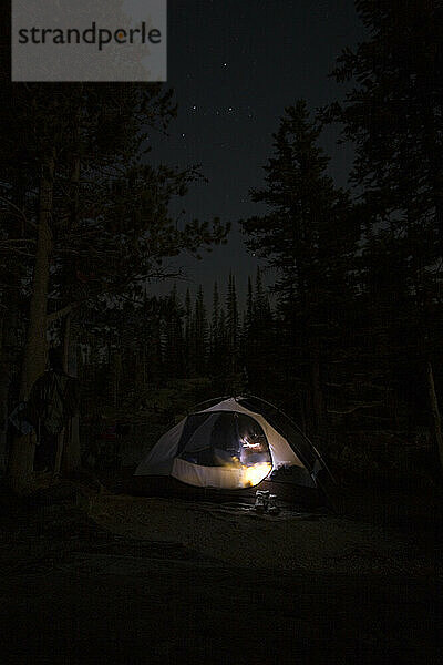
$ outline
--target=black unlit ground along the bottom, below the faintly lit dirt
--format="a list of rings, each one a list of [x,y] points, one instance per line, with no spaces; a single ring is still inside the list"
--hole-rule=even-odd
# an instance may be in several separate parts
[[[74,500],[2,513],[2,665],[440,662],[429,570],[233,567],[111,533]]]

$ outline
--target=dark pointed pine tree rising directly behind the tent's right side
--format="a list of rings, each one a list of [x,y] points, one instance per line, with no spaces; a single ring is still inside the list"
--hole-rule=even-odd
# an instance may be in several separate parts
[[[265,187],[251,193],[269,213],[243,223],[248,246],[277,270],[281,374],[309,415],[311,431],[324,417],[322,372],[330,329],[340,326],[334,298],[343,298],[343,289],[350,293],[347,280],[359,237],[348,194],[326,173],[329,160],[317,145],[319,135],[305,101],[286,109],[265,166]]]

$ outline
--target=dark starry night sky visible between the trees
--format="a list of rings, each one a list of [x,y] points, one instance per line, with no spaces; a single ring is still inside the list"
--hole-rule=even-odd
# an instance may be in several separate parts
[[[168,23],[168,84],[178,117],[168,139],[153,136],[153,157],[200,164],[209,181],[177,209],[233,222],[227,246],[179,263],[192,290],[202,283],[209,295],[214,280],[224,285],[233,269],[241,293],[257,258],[248,255],[236,221],[259,212],[248,191],[262,183],[271,134],[297,99],[315,110],[340,98],[328,73],[341,49],[363,39],[363,29],[352,0],[169,0]],[[329,130],[322,145],[332,176],[346,185],[352,151],[337,146],[336,136]]]

